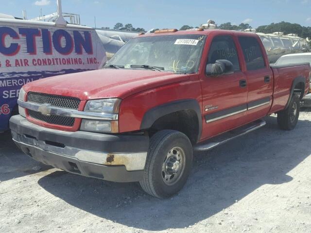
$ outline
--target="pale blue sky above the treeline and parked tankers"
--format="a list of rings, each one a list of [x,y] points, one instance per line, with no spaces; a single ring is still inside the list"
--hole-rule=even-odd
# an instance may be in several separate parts
[[[253,28],[286,21],[311,26],[311,0],[62,0],[63,12],[79,14],[81,23],[113,28],[193,27],[214,20],[218,25],[249,23]],[[56,12],[56,0],[0,0],[0,13],[28,18]],[[94,17],[96,20],[94,20]]]

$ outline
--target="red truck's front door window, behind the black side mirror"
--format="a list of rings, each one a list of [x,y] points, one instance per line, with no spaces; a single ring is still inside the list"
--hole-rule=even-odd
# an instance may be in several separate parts
[[[232,62],[234,70],[240,70],[238,52],[231,36],[216,36],[209,49],[207,64],[214,64],[216,60]]]

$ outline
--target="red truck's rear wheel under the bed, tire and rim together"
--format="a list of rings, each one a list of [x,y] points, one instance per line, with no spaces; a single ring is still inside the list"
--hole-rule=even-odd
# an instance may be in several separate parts
[[[298,122],[300,100],[294,95],[287,109],[277,113],[277,124],[281,130],[293,130]]]

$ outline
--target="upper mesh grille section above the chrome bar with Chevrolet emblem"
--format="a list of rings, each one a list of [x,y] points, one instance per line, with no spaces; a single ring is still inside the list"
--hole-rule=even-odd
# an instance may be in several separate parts
[[[27,100],[33,103],[51,104],[54,107],[78,109],[80,100],[74,97],[48,95],[42,93],[29,92]]]

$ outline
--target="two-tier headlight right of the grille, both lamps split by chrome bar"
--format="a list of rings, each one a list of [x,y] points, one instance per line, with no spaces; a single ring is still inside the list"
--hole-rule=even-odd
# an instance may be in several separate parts
[[[118,114],[121,99],[89,100],[85,112]],[[118,133],[118,120],[89,120],[82,119],[80,130],[98,133]]]

